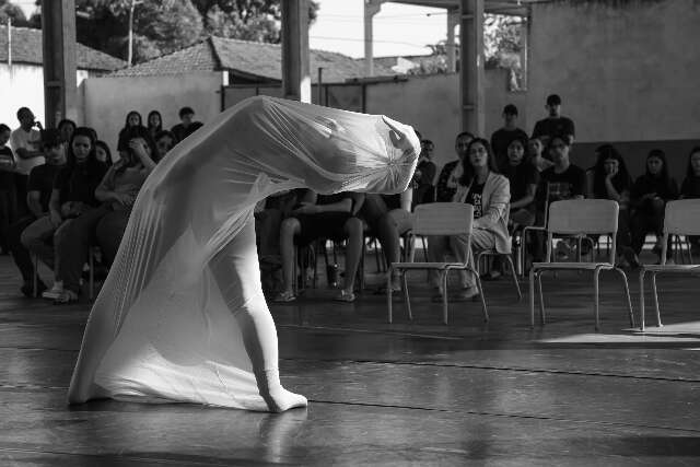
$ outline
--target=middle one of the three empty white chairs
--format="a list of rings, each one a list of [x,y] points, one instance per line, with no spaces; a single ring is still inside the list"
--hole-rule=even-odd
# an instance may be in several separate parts
[[[535,281],[539,291],[539,314],[541,324],[545,324],[545,301],[542,297],[541,275],[547,270],[592,270],[595,315],[595,329],[599,330],[600,319],[598,313],[598,276],[603,270],[615,270],[625,282],[625,294],[629,308],[630,325],[634,326],[634,315],[632,313],[632,301],[627,282],[627,275],[623,270],[615,266],[615,242],[609,250],[608,261],[591,262],[550,262],[552,236],[557,234],[579,235],[587,234],[609,234],[612,238],[617,234],[617,218],[619,206],[616,201],[607,199],[572,199],[555,201],[549,205],[549,223],[547,225],[547,262],[534,262],[529,271],[529,314],[530,326],[535,326]]]

